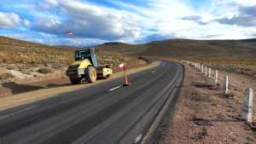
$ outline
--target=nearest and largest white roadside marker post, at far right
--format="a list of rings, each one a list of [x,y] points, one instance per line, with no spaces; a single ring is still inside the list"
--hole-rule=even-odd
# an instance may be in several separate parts
[[[247,123],[252,123],[253,119],[253,89],[246,89],[246,97],[242,109],[242,119]]]

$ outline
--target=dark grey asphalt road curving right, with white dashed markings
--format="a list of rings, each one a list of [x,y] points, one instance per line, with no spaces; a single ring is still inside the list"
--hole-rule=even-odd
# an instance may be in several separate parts
[[[168,99],[177,96],[182,66],[160,66],[0,111],[0,144],[130,144],[147,132]],[[174,93],[175,92],[175,93]]]

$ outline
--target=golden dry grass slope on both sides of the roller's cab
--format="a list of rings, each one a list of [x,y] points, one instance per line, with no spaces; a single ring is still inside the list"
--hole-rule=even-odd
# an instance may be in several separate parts
[[[26,64],[29,66],[67,66],[73,62],[75,48],[61,48],[37,43],[27,43],[9,37],[0,37],[0,64]],[[125,60],[122,55],[97,50],[101,64],[117,65]],[[9,66],[10,67],[10,66]],[[11,68],[11,69],[14,69]]]

